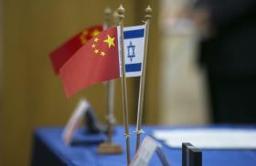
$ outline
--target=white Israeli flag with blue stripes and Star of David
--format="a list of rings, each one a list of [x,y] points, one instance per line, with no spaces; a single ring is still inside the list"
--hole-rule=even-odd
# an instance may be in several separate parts
[[[118,28],[119,39],[119,64],[120,77],[122,77],[122,54],[121,54],[121,32],[120,26]],[[126,77],[140,77],[142,76],[143,60],[144,60],[144,26],[129,26],[123,28],[123,43],[124,43],[124,57],[125,57],[125,71]]]

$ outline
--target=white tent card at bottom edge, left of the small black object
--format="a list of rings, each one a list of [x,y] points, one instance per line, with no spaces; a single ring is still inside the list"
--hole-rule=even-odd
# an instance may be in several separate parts
[[[130,166],[146,166],[159,146],[157,141],[149,136],[145,137]]]

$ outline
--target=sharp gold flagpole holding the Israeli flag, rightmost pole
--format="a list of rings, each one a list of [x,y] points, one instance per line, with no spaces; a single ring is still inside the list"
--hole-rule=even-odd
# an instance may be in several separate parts
[[[139,101],[138,101],[138,111],[137,111],[137,125],[136,125],[136,151],[139,149],[141,142],[142,130],[142,117],[143,117],[143,108],[144,108],[144,82],[145,82],[145,68],[146,68],[146,57],[147,57],[147,45],[148,45],[148,36],[149,36],[149,26],[150,19],[152,17],[152,8],[150,5],[146,7],[145,11],[145,43],[144,43],[144,63],[143,71],[140,79],[140,91],[139,91]]]

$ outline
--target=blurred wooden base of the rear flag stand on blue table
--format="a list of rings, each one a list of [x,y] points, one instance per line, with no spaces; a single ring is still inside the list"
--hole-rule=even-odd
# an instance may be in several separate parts
[[[100,154],[121,154],[121,153],[123,153],[123,149],[118,144],[104,142],[104,143],[101,143],[100,147],[98,148],[98,153],[100,153]]]

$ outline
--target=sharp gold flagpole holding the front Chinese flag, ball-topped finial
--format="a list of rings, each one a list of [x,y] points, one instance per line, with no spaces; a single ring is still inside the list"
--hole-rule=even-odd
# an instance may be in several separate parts
[[[125,77],[125,60],[124,60],[124,46],[123,46],[123,18],[124,8],[121,4],[117,9],[119,26],[121,31],[121,53],[122,53],[122,93],[123,93],[123,123],[124,123],[124,137],[126,140],[126,158],[127,165],[130,163],[130,133],[129,133],[129,119],[128,119],[128,102],[127,102],[127,88]]]

